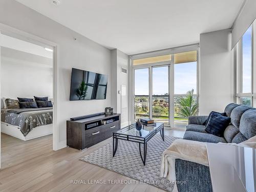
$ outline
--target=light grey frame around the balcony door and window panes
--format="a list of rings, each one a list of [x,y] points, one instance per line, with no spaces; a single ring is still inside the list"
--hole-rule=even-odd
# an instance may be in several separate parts
[[[149,113],[150,118],[152,118],[152,99],[153,99],[153,90],[152,90],[152,68],[154,67],[164,67],[169,66],[169,123],[165,124],[165,126],[170,127],[172,129],[177,129],[175,127],[174,123],[174,97],[177,96],[186,96],[186,94],[174,94],[174,54],[175,53],[181,53],[181,52],[188,52],[188,51],[197,51],[197,92],[194,93],[193,96],[197,97],[197,103],[200,105],[199,96],[200,96],[200,49],[199,44],[194,44],[190,46],[184,46],[184,47],[177,47],[167,50],[161,50],[156,52],[150,52],[150,53],[143,53],[138,55],[132,55],[130,56],[130,68],[131,68],[131,120],[135,121],[135,70],[136,69],[144,69],[149,68],[149,86],[150,86],[150,95],[149,95]],[[156,62],[156,63],[147,63],[142,65],[133,65],[133,59],[139,59],[139,58],[145,58],[145,57],[154,57],[154,56],[160,56],[160,55],[172,55],[172,60],[170,61],[163,61],[163,62]],[[177,64],[178,65],[178,64]],[[171,110],[172,109],[172,110]],[[198,114],[199,114],[199,108],[198,108]]]

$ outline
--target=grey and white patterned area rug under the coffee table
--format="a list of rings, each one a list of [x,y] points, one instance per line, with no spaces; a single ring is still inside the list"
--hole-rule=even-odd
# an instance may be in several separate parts
[[[146,165],[144,166],[139,154],[139,144],[131,141],[118,140],[118,148],[115,157],[112,157],[113,144],[108,143],[99,150],[83,157],[82,161],[98,165],[112,170],[121,175],[143,180],[163,190],[172,191],[173,183],[160,177],[160,164],[162,153],[178,137],[155,135],[147,142]],[[143,145],[142,145],[143,156]]]

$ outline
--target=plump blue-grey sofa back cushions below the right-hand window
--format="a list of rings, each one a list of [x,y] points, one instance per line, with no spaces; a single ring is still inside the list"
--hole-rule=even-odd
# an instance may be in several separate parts
[[[230,103],[224,112],[231,118],[231,124],[224,132],[227,142],[241,143],[256,135],[256,109]]]

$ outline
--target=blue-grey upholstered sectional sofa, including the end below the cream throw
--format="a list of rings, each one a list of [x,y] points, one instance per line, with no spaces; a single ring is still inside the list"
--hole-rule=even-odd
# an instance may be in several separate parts
[[[204,122],[208,116],[190,116],[183,139],[211,143],[241,143],[256,135],[256,109],[249,106],[230,103],[224,112],[231,118],[223,137],[205,132]],[[179,192],[212,191],[209,167],[181,159],[175,162],[176,179],[188,181],[178,185]]]

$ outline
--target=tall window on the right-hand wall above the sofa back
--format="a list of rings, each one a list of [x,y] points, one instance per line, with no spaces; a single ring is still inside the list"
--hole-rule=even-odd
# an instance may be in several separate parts
[[[252,24],[244,33],[237,46],[232,50],[236,57],[236,101],[237,103],[255,106],[255,88],[253,89],[253,28]],[[254,40],[255,41],[255,40]],[[255,65],[255,64],[254,64]],[[256,66],[255,66],[256,67]],[[255,68],[254,67],[254,68]],[[254,104],[253,104],[254,103]]]

